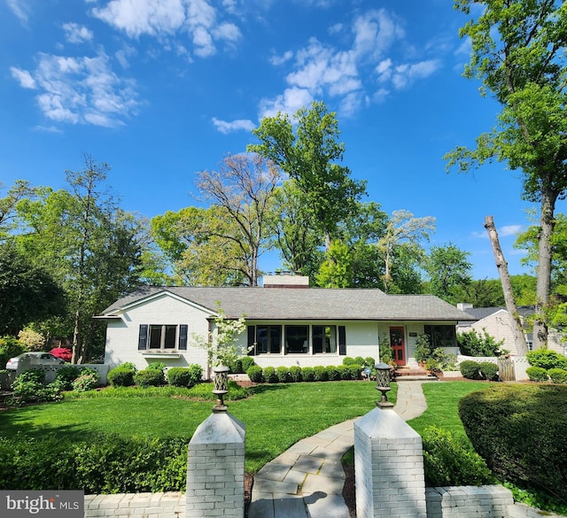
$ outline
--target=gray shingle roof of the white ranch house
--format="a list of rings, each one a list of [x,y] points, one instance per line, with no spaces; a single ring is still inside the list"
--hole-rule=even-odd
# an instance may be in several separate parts
[[[432,295],[386,295],[381,290],[321,288],[208,288],[146,286],[103,312],[112,315],[168,291],[215,313],[217,302],[229,318],[249,320],[467,321],[474,317]]]

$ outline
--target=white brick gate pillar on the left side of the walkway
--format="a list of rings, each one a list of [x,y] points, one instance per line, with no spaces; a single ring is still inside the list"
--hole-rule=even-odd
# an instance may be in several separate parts
[[[191,437],[185,497],[185,518],[245,515],[245,425],[226,410]]]

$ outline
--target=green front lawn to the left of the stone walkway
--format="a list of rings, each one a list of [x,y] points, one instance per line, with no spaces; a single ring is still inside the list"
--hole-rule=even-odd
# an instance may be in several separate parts
[[[180,398],[180,394],[169,397],[167,390],[163,396],[149,398],[140,397],[147,396],[144,390],[119,390],[112,398],[104,392],[6,410],[0,435],[85,440],[89,434],[105,432],[123,437],[185,437],[189,441],[214,405]],[[264,384],[253,392],[251,398],[228,402],[229,413],[246,426],[245,469],[250,473],[300,439],[368,413],[379,399],[375,384],[370,382]],[[394,384],[388,398],[395,402],[395,397]]]

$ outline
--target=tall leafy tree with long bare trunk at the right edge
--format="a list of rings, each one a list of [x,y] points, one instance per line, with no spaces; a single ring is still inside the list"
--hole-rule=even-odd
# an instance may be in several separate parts
[[[456,0],[470,14],[461,29],[472,46],[465,76],[483,81],[502,105],[497,124],[475,149],[458,146],[447,167],[470,171],[486,161],[506,162],[524,174],[524,198],[540,205],[535,348],[546,344],[545,308],[551,285],[555,203],[567,188],[567,5],[559,0]]]

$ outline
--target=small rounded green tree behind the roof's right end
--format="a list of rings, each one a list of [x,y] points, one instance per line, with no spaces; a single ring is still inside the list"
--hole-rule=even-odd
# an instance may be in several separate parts
[[[462,251],[452,243],[431,246],[430,255],[425,262],[429,274],[429,288],[433,295],[455,305],[459,300],[459,290],[470,284],[472,264],[467,259],[470,252]]]

